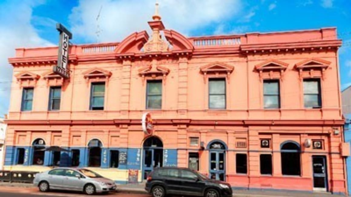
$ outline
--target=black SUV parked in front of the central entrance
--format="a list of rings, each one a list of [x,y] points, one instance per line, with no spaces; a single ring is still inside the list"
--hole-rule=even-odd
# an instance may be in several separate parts
[[[231,197],[229,183],[216,181],[188,168],[163,167],[154,169],[147,177],[145,190],[153,197],[166,194],[204,197]]]

